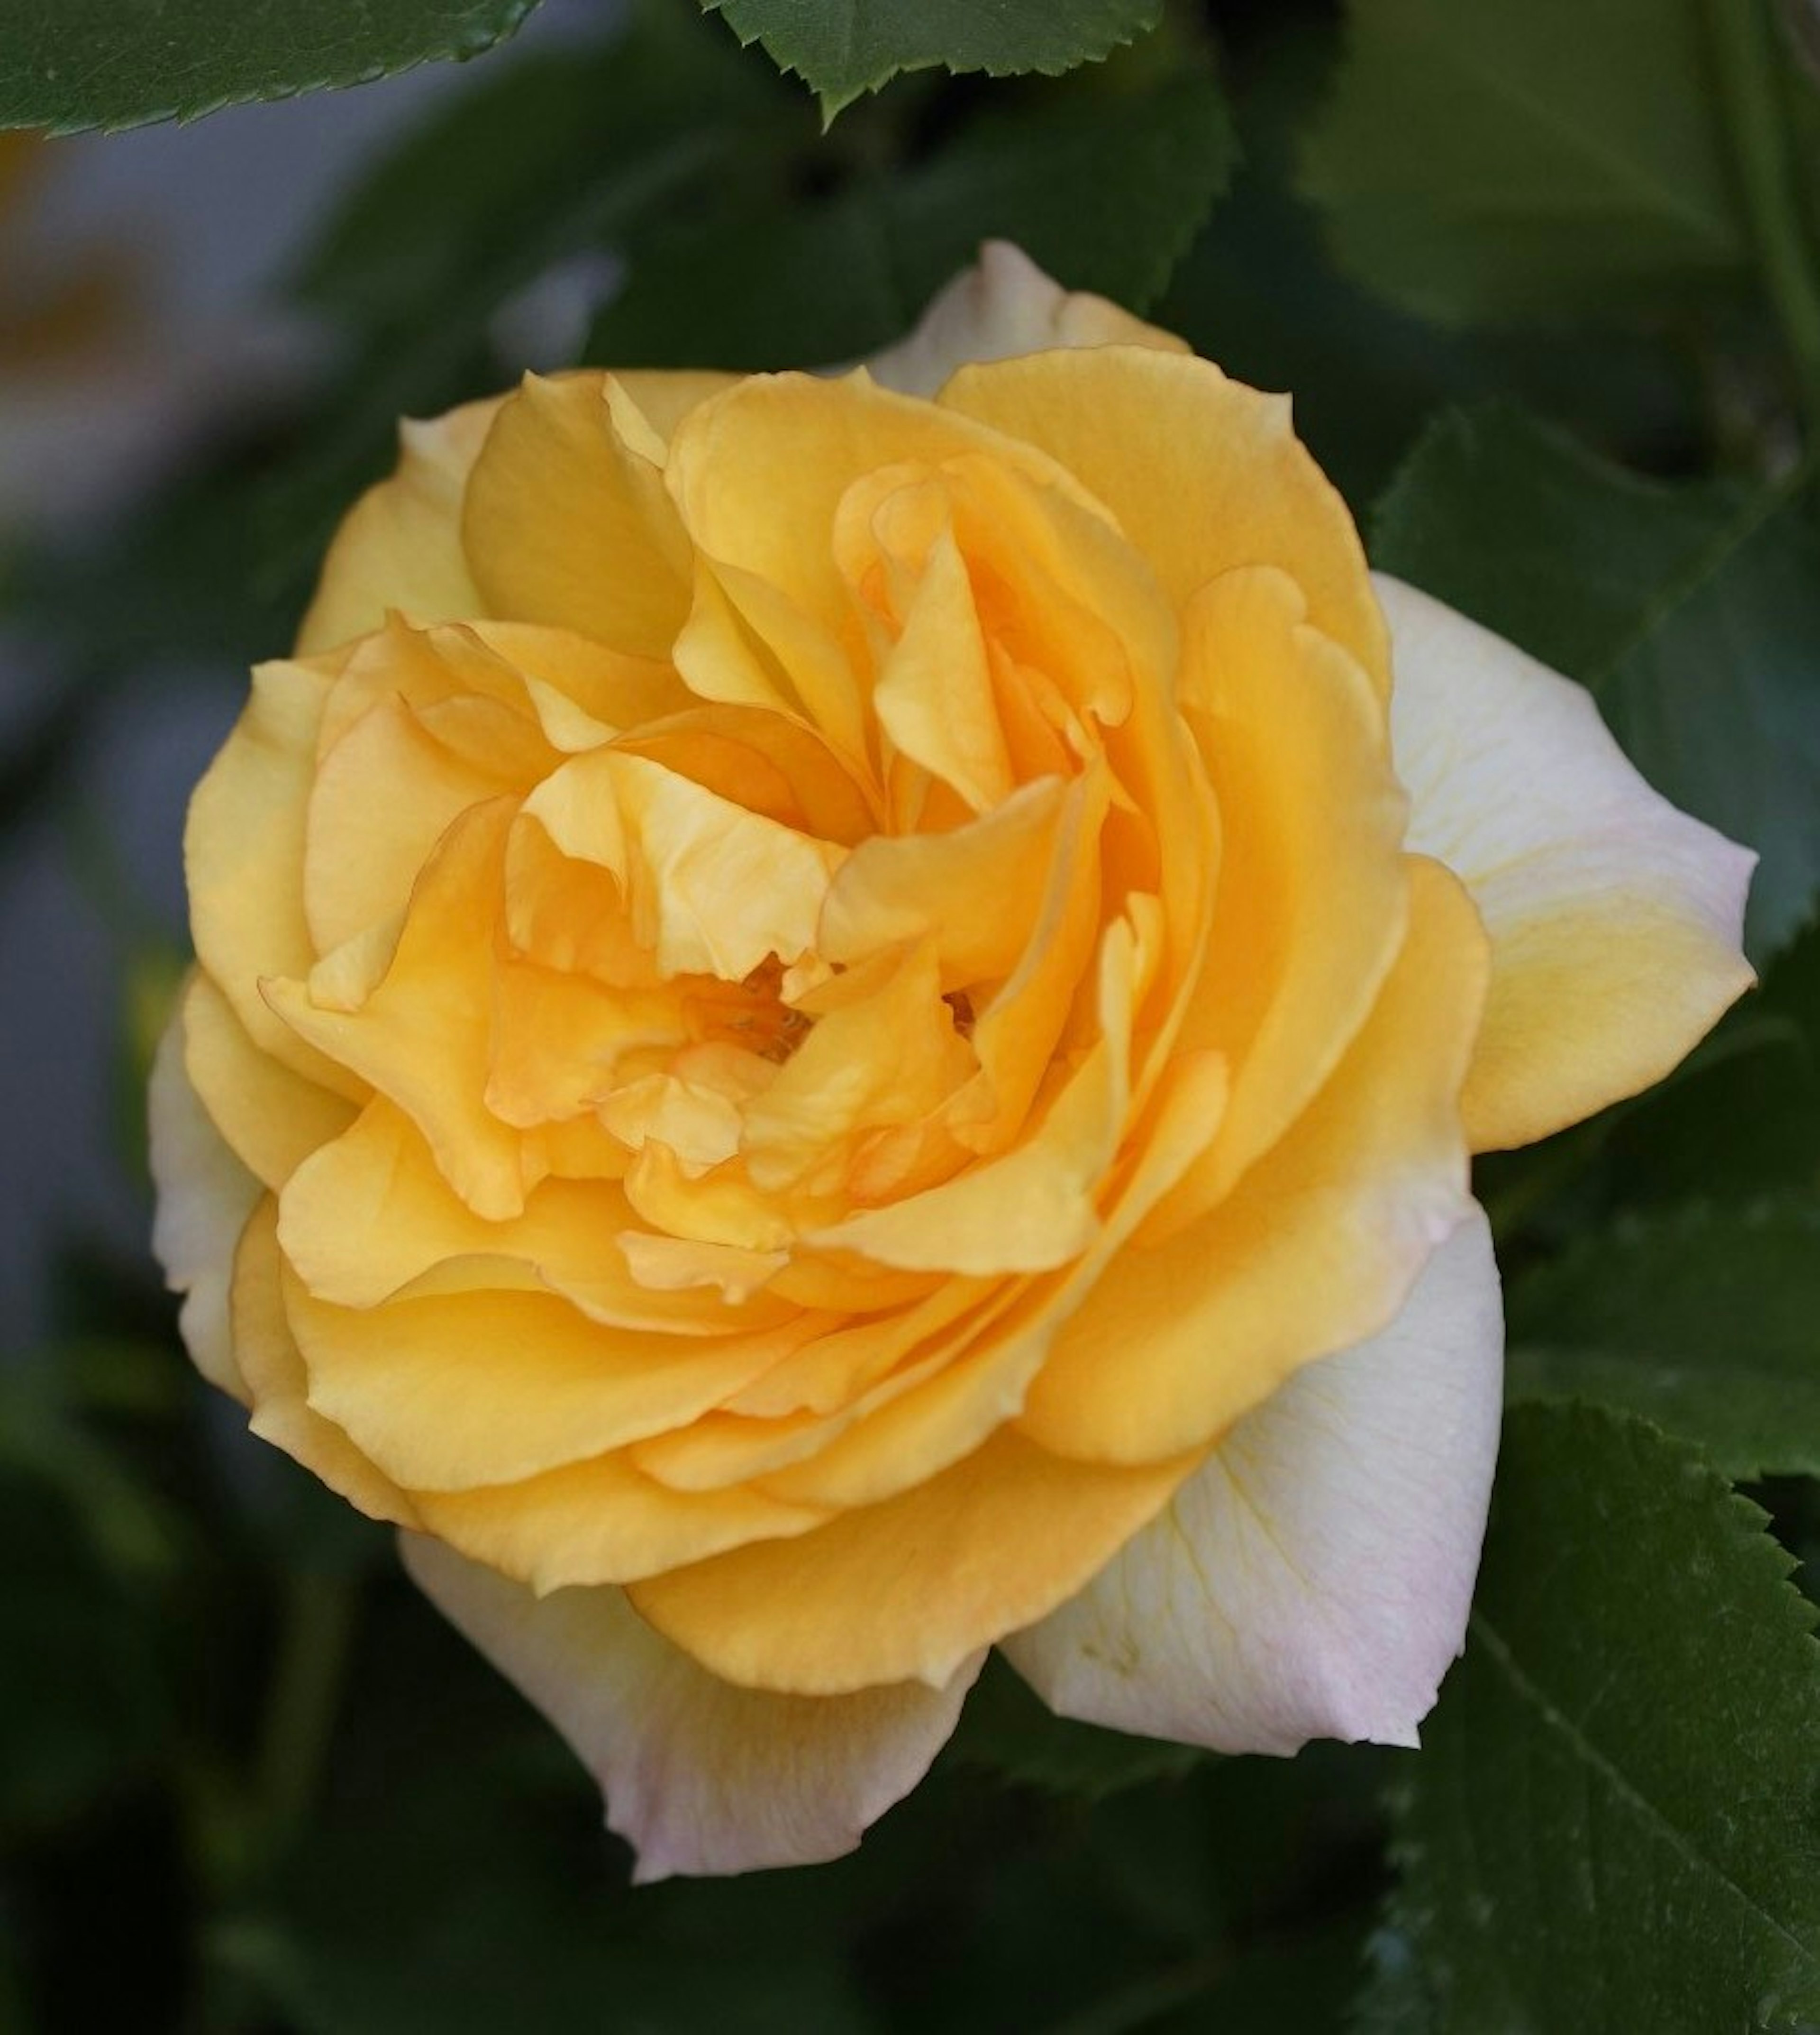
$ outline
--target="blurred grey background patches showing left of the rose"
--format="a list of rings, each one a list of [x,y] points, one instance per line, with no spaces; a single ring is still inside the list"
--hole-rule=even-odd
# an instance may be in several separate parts
[[[596,37],[615,12],[615,0],[544,0],[487,65]],[[81,539],[187,448],[281,397],[316,344],[277,301],[289,265],[360,167],[472,75],[423,65],[195,126],[49,144],[8,224],[8,267],[51,287],[112,265],[126,315],[79,360],[0,372],[0,523]],[[539,364],[576,291],[601,287],[552,277],[529,295],[499,334],[501,383]],[[39,684],[29,653],[0,639],[0,741],[29,718]],[[159,956],[185,944],[183,808],[242,686],[240,672],[165,667],[155,686],[128,688],[69,794],[0,855],[0,1351],[43,1337],[59,1239],[145,1247],[145,1195],[120,1164],[140,1107],[122,1072],[122,983],[136,975],[151,1005]]]

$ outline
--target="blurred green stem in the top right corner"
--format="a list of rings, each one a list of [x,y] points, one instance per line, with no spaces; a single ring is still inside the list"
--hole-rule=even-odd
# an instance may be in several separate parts
[[[1796,374],[1808,444],[1820,444],[1820,275],[1802,218],[1767,0],[1706,0],[1718,100],[1763,281]]]

